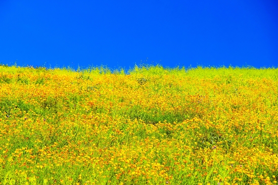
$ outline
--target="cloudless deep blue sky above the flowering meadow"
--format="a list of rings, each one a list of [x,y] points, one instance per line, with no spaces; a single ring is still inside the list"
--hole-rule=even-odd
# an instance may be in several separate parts
[[[0,63],[278,66],[278,1],[0,0]]]

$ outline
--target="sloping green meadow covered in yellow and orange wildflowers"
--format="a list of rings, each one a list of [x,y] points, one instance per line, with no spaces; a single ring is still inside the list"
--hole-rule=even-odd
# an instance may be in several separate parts
[[[278,69],[0,66],[0,184],[275,184]]]

